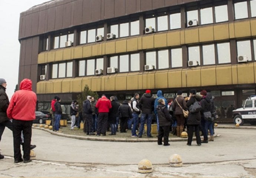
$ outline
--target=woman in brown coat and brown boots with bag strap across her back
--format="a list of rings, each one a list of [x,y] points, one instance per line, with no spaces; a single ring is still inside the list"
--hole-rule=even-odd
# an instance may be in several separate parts
[[[187,110],[185,99],[182,96],[182,91],[177,92],[177,97],[174,100],[172,107],[175,113],[175,118],[177,119],[177,136],[181,136],[181,132],[183,132],[185,123],[183,110]]]

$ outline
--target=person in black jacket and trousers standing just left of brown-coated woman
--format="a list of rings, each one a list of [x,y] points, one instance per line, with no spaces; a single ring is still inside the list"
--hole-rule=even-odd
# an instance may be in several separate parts
[[[170,145],[168,143],[169,132],[170,132],[170,126],[173,123],[173,119],[171,119],[171,115],[165,106],[164,99],[158,100],[157,114],[158,114],[158,121],[159,121],[159,132],[158,132],[157,144],[162,145],[162,139],[164,137],[164,146],[168,146]]]

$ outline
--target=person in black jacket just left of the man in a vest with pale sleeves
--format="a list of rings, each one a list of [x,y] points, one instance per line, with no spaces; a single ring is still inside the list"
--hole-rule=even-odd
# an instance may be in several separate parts
[[[125,133],[125,129],[128,125],[128,119],[132,118],[132,110],[128,105],[128,101],[124,100],[121,106],[118,108],[119,118],[120,118],[120,132]]]

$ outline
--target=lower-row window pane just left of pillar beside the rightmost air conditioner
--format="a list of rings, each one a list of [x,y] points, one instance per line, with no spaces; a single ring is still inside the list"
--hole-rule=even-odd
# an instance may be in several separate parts
[[[231,62],[229,42],[217,43],[217,52],[219,64]]]

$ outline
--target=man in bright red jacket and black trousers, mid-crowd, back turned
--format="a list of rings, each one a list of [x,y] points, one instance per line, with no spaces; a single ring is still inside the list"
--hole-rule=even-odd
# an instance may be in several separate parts
[[[101,98],[98,100],[96,106],[99,112],[99,120],[98,120],[98,129],[97,135],[106,136],[106,127],[108,123],[108,113],[109,109],[112,108],[111,102],[105,95],[102,95]]]

